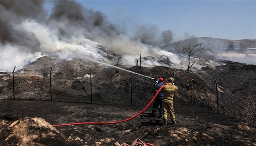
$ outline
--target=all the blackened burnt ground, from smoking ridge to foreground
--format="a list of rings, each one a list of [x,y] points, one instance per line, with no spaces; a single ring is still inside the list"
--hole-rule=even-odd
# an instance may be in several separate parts
[[[53,101],[49,94],[49,62],[53,63]],[[93,104],[90,104],[90,68]],[[56,135],[48,141],[39,138],[35,145],[109,146],[116,141],[131,144],[139,138],[157,146],[256,146],[255,65],[226,62],[226,65],[215,68],[204,67],[189,72],[163,66],[127,69],[150,77],[161,74],[171,77],[175,72],[175,83],[179,87],[175,101],[176,125],[163,126],[160,118],[150,117],[152,106],[149,106],[142,115],[123,123],[56,127],[65,142],[59,141],[64,141],[63,137]],[[53,59],[43,57],[15,72],[17,100],[14,101],[8,100],[13,98],[12,76],[1,73],[0,110],[1,115],[5,114],[1,116],[1,122],[6,124],[0,127],[0,143],[3,146],[19,144],[18,137],[6,140],[13,132],[6,128],[25,117],[43,118],[54,125],[118,121],[137,114],[153,97],[155,80],[132,75],[131,106],[131,75],[122,70],[115,73],[116,69],[82,60],[55,63]],[[224,87],[224,94],[219,94],[219,114],[213,76]]]

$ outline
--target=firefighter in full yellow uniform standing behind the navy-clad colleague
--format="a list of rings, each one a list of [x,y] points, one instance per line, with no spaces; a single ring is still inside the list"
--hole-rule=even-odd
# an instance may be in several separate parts
[[[173,109],[173,95],[174,92],[178,90],[178,87],[174,85],[173,78],[169,78],[168,83],[162,88],[161,91],[164,92],[163,100],[162,100],[162,107],[163,107],[163,118],[164,124],[167,125],[167,110],[170,113],[170,118],[172,123],[176,124],[175,116],[174,116],[174,109]]]

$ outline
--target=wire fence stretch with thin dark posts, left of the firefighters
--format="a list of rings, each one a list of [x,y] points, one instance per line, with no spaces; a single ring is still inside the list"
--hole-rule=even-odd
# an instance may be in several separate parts
[[[15,66],[16,68],[16,66]],[[45,100],[60,102],[79,102],[101,105],[139,105],[140,85],[148,84],[150,79],[122,70],[105,69],[104,76],[97,71],[85,70],[83,77],[64,77],[61,71],[50,68],[43,76],[16,76],[12,72],[13,100]],[[27,75],[27,76],[24,76]],[[96,80],[94,80],[96,79]],[[103,81],[104,80],[104,81]],[[31,83],[33,83],[31,85]],[[150,92],[150,91],[149,91]],[[152,91],[151,91],[152,92]],[[141,94],[140,94],[141,96]],[[145,96],[152,97],[153,94]],[[135,104],[134,104],[135,103]]]

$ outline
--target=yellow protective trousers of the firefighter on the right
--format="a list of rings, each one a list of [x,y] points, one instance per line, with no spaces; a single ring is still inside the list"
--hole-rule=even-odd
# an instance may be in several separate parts
[[[175,116],[174,116],[174,109],[173,109],[173,101],[162,101],[162,107],[163,107],[163,117],[164,120],[167,121],[167,111],[170,113],[170,118],[171,121],[175,121]]]

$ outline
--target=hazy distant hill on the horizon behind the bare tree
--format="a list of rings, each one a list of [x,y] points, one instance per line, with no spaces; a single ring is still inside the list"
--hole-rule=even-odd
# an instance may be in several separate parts
[[[170,45],[163,46],[162,49],[176,52],[176,53],[182,53],[183,45],[188,44],[196,44],[196,43],[203,43],[208,44],[208,48],[212,49],[214,52],[222,52],[225,51],[228,47],[228,45],[234,45],[235,48],[239,48],[240,45],[245,45],[248,48],[256,48],[256,40],[226,40],[226,39],[218,39],[218,38],[212,38],[212,37],[196,37],[191,38],[187,40],[180,40],[175,43],[171,43]]]

